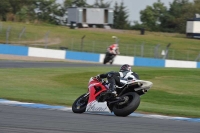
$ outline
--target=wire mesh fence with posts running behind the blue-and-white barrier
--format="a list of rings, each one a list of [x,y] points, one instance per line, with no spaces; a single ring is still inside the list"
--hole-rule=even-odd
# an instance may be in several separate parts
[[[57,41],[52,41],[57,38]],[[26,27],[3,26],[0,23],[0,43],[26,45],[32,47],[42,47],[50,49],[65,49],[72,51],[105,53],[109,45],[114,41],[89,40],[82,38],[62,38],[55,37],[50,31],[27,32]],[[173,44],[172,44],[173,45]],[[156,59],[188,60],[199,61],[199,50],[175,50],[170,48],[170,44],[140,44],[119,42],[120,54],[124,56],[137,56]]]

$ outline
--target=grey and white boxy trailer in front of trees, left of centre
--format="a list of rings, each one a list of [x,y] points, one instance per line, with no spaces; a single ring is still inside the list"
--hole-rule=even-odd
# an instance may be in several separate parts
[[[68,24],[77,25],[79,28],[113,25],[112,8],[68,8]]]

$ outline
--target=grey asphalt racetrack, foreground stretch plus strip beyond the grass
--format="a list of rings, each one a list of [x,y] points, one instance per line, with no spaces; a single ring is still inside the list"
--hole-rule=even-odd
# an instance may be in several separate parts
[[[87,67],[88,63],[0,61],[0,68]],[[108,114],[74,114],[0,105],[0,133],[200,133],[198,122],[143,117],[116,117]]]

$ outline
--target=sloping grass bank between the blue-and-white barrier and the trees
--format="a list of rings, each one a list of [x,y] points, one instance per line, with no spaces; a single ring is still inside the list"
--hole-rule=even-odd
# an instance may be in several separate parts
[[[67,47],[69,50],[81,51],[81,38],[86,35],[82,51],[105,53],[107,46],[114,42],[111,36],[120,38],[121,55],[154,57],[155,46],[160,44],[159,58],[162,58],[161,51],[171,43],[169,49],[169,59],[192,60],[199,55],[199,40],[188,39],[185,34],[160,33],[146,31],[145,35],[140,35],[140,31],[120,31],[111,32],[109,30],[82,30],[69,29],[66,26],[55,26],[47,24],[25,24],[16,22],[0,22],[0,43],[6,42],[6,30],[11,26],[9,43],[46,47],[45,34],[49,32],[48,42],[57,44],[47,44],[48,48],[59,49]],[[19,34],[23,27],[26,27],[25,34],[19,40]],[[56,41],[56,39],[58,39]],[[34,41],[40,42],[34,42]],[[37,43],[37,45],[34,45]],[[141,44],[144,44],[143,55],[141,54]]]

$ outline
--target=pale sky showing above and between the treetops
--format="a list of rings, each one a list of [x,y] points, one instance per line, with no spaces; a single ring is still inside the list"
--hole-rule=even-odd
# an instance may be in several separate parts
[[[62,2],[63,0],[57,0]],[[121,3],[124,1],[124,5],[127,7],[129,12],[129,21],[139,21],[140,22],[140,11],[144,10],[147,5],[152,6],[153,3],[157,2],[158,0],[104,0],[104,2],[112,1],[111,8],[114,7],[115,2]],[[174,0],[161,0],[165,6],[169,7],[169,3],[172,3]],[[95,0],[87,0],[88,4],[94,4]]]

